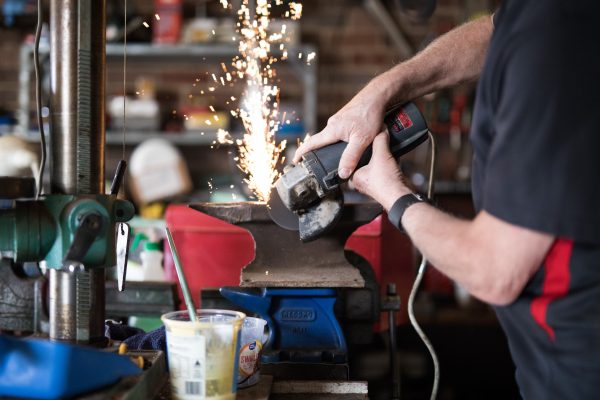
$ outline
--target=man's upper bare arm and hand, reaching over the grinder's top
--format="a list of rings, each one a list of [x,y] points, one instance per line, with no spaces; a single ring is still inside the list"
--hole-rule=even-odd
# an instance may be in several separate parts
[[[348,146],[338,173],[343,179],[348,178],[380,132],[389,105],[479,77],[492,31],[490,16],[466,23],[439,37],[410,60],[374,78],[329,119],[325,129],[298,148],[294,162],[308,151],[344,140]]]

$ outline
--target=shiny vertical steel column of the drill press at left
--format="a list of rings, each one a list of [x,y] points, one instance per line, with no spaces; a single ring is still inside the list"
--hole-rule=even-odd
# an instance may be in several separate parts
[[[104,193],[105,8],[105,0],[50,2],[53,194]],[[78,275],[49,274],[52,339],[104,336],[104,269]]]

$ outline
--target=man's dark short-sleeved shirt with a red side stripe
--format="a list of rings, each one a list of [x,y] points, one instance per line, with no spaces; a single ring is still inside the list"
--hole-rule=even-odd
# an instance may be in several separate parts
[[[557,237],[496,312],[525,399],[600,399],[600,2],[505,0],[494,22],[471,133],[475,206]]]

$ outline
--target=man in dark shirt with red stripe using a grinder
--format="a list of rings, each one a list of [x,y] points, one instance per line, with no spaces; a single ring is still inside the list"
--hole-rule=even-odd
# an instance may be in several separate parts
[[[600,398],[599,11],[594,1],[506,0],[493,19],[375,78],[295,157],[348,141],[347,178],[373,144],[355,186],[432,265],[495,305],[526,399]],[[393,103],[477,78],[478,213],[467,221],[411,197],[380,126]]]

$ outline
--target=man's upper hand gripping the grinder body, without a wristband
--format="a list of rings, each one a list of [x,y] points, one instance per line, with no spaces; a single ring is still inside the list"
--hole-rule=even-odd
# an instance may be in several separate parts
[[[338,175],[348,179],[366,148],[381,131],[386,101],[380,92],[381,83],[373,81],[361,90],[340,111],[327,121],[321,132],[309,137],[294,155],[294,163],[312,150],[343,140],[348,146],[342,154]]]

